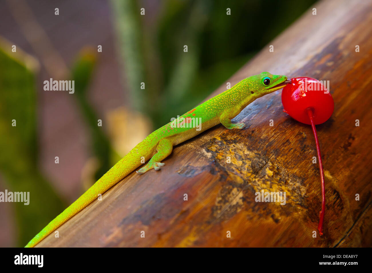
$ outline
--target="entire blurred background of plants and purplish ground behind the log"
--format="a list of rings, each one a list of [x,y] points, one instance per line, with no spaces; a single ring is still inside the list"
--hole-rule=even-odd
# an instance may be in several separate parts
[[[314,2],[0,0],[0,192],[30,192],[0,202],[0,247],[24,246]],[[45,91],[50,78],[74,94]]]

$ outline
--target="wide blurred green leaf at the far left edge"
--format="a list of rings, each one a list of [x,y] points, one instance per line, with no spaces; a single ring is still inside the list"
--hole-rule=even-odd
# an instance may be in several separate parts
[[[0,171],[8,192],[30,193],[29,205],[12,203],[17,246],[25,246],[65,203],[38,168],[35,75],[1,48],[0,64]]]

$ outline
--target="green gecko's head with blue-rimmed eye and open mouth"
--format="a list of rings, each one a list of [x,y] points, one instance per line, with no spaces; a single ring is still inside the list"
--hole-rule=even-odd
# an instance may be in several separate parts
[[[261,97],[285,87],[286,84],[291,83],[291,80],[284,75],[272,75],[269,72],[262,72],[257,75],[256,82],[259,84],[257,92]]]

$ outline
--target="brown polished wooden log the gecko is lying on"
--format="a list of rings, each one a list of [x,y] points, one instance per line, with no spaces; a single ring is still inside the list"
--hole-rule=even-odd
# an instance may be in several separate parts
[[[58,228],[59,238],[51,234],[38,246],[370,247],[372,5],[314,7],[316,16],[308,10],[269,44],[274,52],[267,45],[228,81],[262,71],[330,81],[334,113],[317,126],[326,190],[322,237],[312,237],[321,188],[311,127],[282,112],[276,91],[235,118],[248,129],[219,125],[176,146],[161,171],[130,174]],[[286,192],[286,204],[255,202],[262,189]]]

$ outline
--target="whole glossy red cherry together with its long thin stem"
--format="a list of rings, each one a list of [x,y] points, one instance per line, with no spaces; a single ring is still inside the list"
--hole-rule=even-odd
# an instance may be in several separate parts
[[[320,153],[320,145],[315,124],[321,124],[328,120],[333,113],[334,102],[331,94],[324,88],[323,83],[314,78],[297,77],[291,79],[282,91],[282,103],[284,112],[295,120],[311,124],[317,146],[320,180],[322,187],[322,210],[319,214],[319,234],[323,235],[323,220],[325,213],[325,187],[323,162]]]

